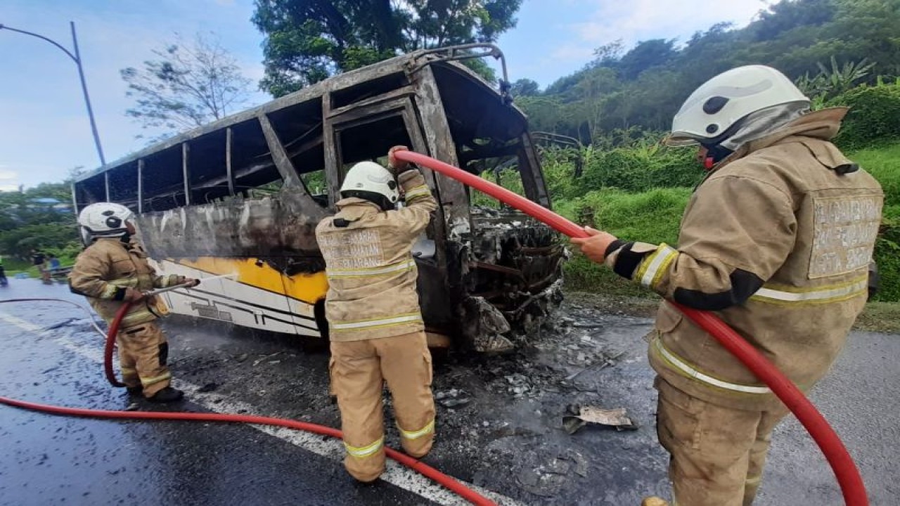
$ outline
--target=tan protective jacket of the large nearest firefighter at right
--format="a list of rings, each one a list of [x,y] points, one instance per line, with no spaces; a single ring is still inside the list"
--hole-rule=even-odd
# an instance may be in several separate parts
[[[666,298],[718,315],[801,389],[832,365],[868,294],[880,185],[830,141],[845,109],[806,114],[715,167],[690,199],[678,248],[624,243],[607,264]],[[770,389],[669,303],[650,344],[689,395],[770,410]]]

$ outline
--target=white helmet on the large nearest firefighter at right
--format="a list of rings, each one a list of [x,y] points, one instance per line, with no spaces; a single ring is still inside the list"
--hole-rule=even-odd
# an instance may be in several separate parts
[[[803,92],[778,70],[764,65],[732,68],[694,91],[672,120],[670,146],[718,144],[748,114],[775,105],[809,105]]]

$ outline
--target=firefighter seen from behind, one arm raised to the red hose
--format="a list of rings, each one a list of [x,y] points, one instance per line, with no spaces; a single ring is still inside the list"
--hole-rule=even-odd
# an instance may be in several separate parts
[[[435,437],[431,355],[410,252],[437,201],[419,169],[388,155],[347,172],[339,212],[320,222],[329,292],[332,392],[338,396],[347,472],[363,483],[384,472],[383,384],[392,394],[401,444],[428,454]],[[399,182],[399,187],[398,187]],[[406,206],[395,210],[402,189]]]

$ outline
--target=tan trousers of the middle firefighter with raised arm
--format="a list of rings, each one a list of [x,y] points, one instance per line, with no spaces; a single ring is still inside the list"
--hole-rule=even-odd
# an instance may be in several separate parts
[[[391,390],[401,445],[428,454],[435,438],[431,353],[424,332],[331,342],[331,384],[338,396],[347,472],[372,482],[384,472],[383,384]]]

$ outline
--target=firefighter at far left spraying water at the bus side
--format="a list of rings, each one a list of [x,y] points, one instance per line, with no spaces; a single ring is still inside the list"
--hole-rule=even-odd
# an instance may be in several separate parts
[[[171,285],[197,285],[183,276],[157,276],[147,254],[136,240],[133,214],[118,203],[92,203],[78,215],[90,245],[69,274],[69,287],[85,295],[107,323],[115,318],[124,301],[132,303],[121,321],[116,344],[119,348],[122,383],[132,395],[140,393],[149,402],[175,402],[184,393],[169,386],[172,375],[166,367],[168,343],[155,322],[166,312],[158,297],[143,292]]]

